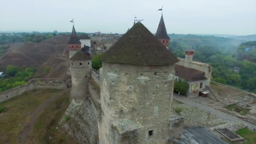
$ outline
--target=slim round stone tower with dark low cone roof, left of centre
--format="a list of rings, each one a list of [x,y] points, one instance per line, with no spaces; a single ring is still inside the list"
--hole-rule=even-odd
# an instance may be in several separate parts
[[[70,59],[72,91],[71,97],[80,104],[88,95],[88,78],[91,72],[91,58],[83,51],[77,51]]]

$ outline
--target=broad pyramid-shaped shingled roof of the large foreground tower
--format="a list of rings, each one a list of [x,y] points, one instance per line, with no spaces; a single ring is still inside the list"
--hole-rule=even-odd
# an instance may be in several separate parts
[[[179,60],[137,22],[104,54],[102,61],[135,65],[169,65]]]

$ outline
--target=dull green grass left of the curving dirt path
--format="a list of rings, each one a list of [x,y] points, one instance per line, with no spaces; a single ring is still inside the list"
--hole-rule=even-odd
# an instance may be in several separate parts
[[[49,97],[59,91],[33,90],[0,103],[1,108],[7,108],[0,116],[1,144],[17,144],[18,137],[32,112]],[[21,124],[22,126],[18,126]],[[16,136],[17,135],[17,136]]]

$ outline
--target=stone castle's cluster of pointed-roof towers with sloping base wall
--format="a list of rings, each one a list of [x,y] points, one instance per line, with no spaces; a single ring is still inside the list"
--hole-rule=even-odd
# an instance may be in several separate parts
[[[61,125],[79,143],[165,144],[180,138],[183,118],[171,109],[174,67],[188,62],[168,51],[169,42],[163,15],[156,36],[137,22],[104,54],[97,75],[73,26],[71,103]]]

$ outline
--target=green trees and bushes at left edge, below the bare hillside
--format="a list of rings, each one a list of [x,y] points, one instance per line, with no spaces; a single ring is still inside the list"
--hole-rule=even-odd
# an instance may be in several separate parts
[[[7,77],[0,79],[0,92],[26,84],[35,71],[35,68],[8,65],[6,67]]]

